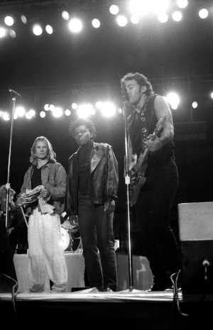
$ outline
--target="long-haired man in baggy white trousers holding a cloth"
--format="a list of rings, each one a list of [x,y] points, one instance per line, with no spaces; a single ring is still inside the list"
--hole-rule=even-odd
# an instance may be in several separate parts
[[[53,147],[44,136],[35,138],[21,195],[36,190],[28,207],[28,282],[30,292],[42,292],[47,277],[52,292],[66,292],[67,265],[62,248],[60,214],[64,211],[67,175],[56,161]],[[19,196],[20,198],[20,196]]]

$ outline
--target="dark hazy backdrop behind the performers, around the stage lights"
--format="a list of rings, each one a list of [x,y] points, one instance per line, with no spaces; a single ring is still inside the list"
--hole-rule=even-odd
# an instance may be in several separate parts
[[[26,4],[27,2],[27,4]],[[58,2],[58,4],[57,4]],[[4,13],[16,17],[16,38],[0,40],[0,109],[11,112],[9,87],[21,94],[21,103],[36,111],[45,103],[69,107],[72,101],[83,102],[111,99],[117,107],[123,106],[120,77],[126,72],[142,72],[153,84],[155,92],[180,94],[181,102],[173,111],[175,125],[175,156],[180,174],[180,185],[175,198],[172,218],[178,233],[177,206],[181,202],[212,201],[212,131],[213,100],[213,1],[190,1],[182,10],[183,19],[165,24],[155,16],[147,16],[138,23],[121,28],[109,13],[113,1],[1,1],[0,23]],[[42,4],[41,4],[42,3]],[[121,13],[127,13],[127,1]],[[171,1],[171,9],[177,9]],[[207,4],[209,17],[201,20],[198,10]],[[62,20],[63,6],[69,13],[79,13],[84,19],[83,31],[72,35],[67,21]],[[26,13],[28,23],[20,21]],[[90,19],[97,17],[102,26],[94,29]],[[38,18],[53,23],[55,33],[35,37],[31,24]],[[192,109],[192,101],[199,103]],[[133,109],[126,109],[130,114]],[[37,115],[31,121],[13,122],[0,118],[0,182],[8,180],[9,145],[11,163],[9,183],[17,194],[30,158],[30,149],[37,136],[46,136],[53,144],[57,159],[67,170],[67,159],[77,149],[68,128],[71,117],[45,119]],[[116,213],[125,219],[126,186],[124,182],[125,131],[124,116],[116,114],[105,119],[96,114],[92,120],[97,126],[97,141],[112,145],[119,161],[119,202]],[[11,138],[12,137],[12,138]],[[11,138],[11,139],[10,139]]]

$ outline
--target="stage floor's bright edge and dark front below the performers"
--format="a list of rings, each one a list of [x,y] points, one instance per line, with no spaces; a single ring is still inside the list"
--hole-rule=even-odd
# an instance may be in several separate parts
[[[65,293],[0,293],[7,329],[129,329],[195,330],[211,322],[213,295],[89,288]]]

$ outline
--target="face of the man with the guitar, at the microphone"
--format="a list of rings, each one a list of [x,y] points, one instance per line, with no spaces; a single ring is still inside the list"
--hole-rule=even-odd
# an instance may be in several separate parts
[[[146,87],[141,87],[135,79],[124,81],[126,93],[128,95],[128,103],[136,106],[141,100],[141,96],[146,92]]]

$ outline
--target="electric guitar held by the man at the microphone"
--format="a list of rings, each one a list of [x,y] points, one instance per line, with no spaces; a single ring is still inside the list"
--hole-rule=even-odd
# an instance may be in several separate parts
[[[163,123],[165,123],[166,115],[161,118],[158,123],[156,123],[155,130],[153,131],[153,136],[151,137],[151,140],[154,141],[158,132],[163,127]],[[130,187],[130,204],[134,205],[136,204],[136,201],[138,199],[138,194],[141,191],[141,187],[146,182],[145,172],[147,168],[147,157],[148,157],[148,149],[144,151],[144,153],[141,153],[141,155],[138,158],[138,162],[130,171],[130,175],[136,177],[136,180],[131,184]]]

